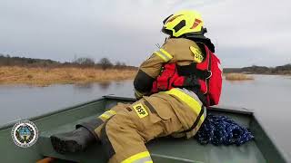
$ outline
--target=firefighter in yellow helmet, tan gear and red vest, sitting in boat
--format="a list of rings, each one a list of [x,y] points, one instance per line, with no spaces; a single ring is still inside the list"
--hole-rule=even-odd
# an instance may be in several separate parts
[[[166,136],[193,137],[206,119],[206,106],[213,103],[203,89],[211,86],[214,72],[197,64],[214,53],[203,25],[196,11],[168,16],[162,29],[169,35],[166,43],[140,65],[135,76],[138,101],[118,103],[98,118],[76,125],[74,131],[51,136],[54,149],[77,152],[97,141],[110,163],[150,163],[146,142]],[[175,65],[172,72],[171,65]]]

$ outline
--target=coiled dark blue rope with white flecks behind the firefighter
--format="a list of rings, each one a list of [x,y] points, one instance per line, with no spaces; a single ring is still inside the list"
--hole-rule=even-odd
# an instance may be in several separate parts
[[[196,139],[200,144],[240,146],[246,141],[254,139],[252,133],[239,126],[234,120],[226,116],[208,114],[206,120],[196,133]]]

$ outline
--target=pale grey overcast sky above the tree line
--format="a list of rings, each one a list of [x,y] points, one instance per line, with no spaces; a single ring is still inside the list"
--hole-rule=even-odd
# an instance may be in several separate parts
[[[162,21],[200,11],[224,67],[291,62],[290,0],[1,0],[0,53],[61,62],[108,57],[139,65],[162,44]]]

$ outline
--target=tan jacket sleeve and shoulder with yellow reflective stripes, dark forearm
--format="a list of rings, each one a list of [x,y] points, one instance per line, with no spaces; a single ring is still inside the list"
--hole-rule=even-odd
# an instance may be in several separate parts
[[[191,50],[192,49],[192,50]],[[193,51],[196,49],[196,51]],[[152,83],[162,71],[166,62],[176,62],[178,65],[188,65],[196,62],[196,53],[201,53],[199,46],[185,38],[170,38],[145,62],[141,64],[135,76],[135,96],[141,98],[150,95]]]

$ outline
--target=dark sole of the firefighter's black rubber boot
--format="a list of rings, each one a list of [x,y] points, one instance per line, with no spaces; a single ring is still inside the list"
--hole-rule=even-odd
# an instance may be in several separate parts
[[[51,136],[50,139],[55,151],[61,154],[75,153],[83,150],[82,146],[74,140],[60,139],[55,136]]]

